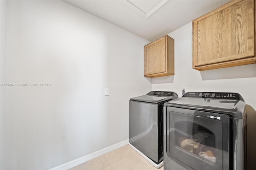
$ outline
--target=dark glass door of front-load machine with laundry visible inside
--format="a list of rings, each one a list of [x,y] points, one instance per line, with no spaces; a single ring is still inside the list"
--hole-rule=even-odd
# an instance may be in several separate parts
[[[187,169],[229,169],[229,116],[168,107],[167,154]]]

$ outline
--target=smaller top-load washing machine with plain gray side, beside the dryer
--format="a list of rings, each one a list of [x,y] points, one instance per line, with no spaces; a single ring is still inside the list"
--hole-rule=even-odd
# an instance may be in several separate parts
[[[172,91],[150,91],[129,101],[129,144],[156,168],[163,163],[163,106]]]

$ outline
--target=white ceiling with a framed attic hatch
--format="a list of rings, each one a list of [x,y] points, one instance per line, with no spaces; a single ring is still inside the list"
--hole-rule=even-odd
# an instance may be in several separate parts
[[[229,0],[64,0],[150,42]]]

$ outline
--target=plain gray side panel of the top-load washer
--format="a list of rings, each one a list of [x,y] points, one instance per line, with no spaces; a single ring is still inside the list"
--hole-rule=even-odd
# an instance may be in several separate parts
[[[152,103],[129,102],[129,142],[155,162],[161,159],[158,157],[158,106]]]

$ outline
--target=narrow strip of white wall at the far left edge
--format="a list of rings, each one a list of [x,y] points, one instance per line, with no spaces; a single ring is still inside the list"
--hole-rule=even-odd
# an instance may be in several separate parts
[[[0,0],[0,84],[6,83],[6,0]],[[0,86],[0,169],[6,169],[6,88]]]

